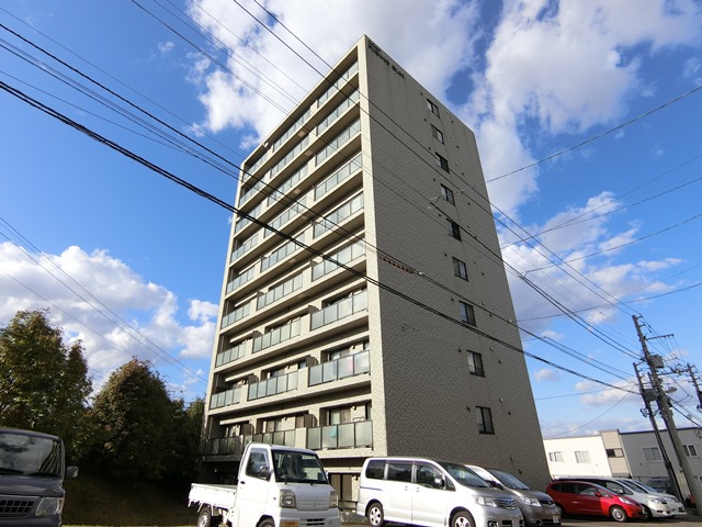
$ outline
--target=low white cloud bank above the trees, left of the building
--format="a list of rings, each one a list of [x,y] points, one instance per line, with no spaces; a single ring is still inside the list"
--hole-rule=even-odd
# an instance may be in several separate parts
[[[211,357],[217,306],[191,301],[192,323],[183,323],[172,292],[144,281],[105,250],[88,254],[72,246],[60,255],[37,255],[2,243],[0,269],[0,323],[18,311],[48,307],[52,324],[68,339],[83,341],[98,385],[132,357],[171,367],[173,378],[192,374],[181,358]]]

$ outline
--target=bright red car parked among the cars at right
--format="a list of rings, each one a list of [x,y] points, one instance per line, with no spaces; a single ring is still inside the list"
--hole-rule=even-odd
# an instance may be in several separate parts
[[[615,522],[647,517],[641,503],[595,483],[556,480],[548,483],[546,494],[553,497],[563,515],[605,516]]]

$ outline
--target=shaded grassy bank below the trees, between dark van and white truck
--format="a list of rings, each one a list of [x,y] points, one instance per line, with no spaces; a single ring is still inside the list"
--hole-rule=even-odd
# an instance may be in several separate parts
[[[82,474],[64,486],[65,527],[191,527],[197,520],[196,511],[188,507],[189,487]]]

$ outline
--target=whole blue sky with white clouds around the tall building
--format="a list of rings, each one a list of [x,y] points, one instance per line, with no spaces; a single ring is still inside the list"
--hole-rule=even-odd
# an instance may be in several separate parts
[[[528,359],[545,436],[648,427],[621,390],[632,315],[699,362],[699,1],[13,0],[0,21],[0,81],[229,203],[235,167],[367,34],[476,133],[524,349],[547,361]],[[95,385],[139,357],[202,396],[230,214],[5,90],[0,115],[0,324],[49,307]],[[678,423],[702,421],[668,385]]]

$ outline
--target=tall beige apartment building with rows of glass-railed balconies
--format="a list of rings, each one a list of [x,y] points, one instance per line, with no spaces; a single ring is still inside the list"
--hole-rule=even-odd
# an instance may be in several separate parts
[[[245,161],[205,467],[317,450],[548,470],[473,133],[367,37]],[[267,228],[268,227],[268,228]]]

